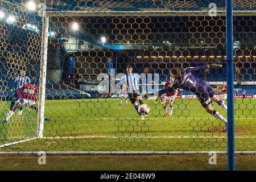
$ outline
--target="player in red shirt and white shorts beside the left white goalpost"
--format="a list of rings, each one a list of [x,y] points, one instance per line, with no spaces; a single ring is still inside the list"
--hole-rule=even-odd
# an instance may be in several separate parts
[[[36,97],[36,93],[38,93],[38,86],[35,85],[36,78],[31,78],[31,83],[26,83],[22,86],[22,88],[18,89],[18,97],[19,100],[14,105],[13,109],[9,111],[5,120],[2,123],[7,123],[11,116],[15,113],[20,106],[27,105],[31,109],[34,109],[36,113],[38,113],[38,106],[36,102],[38,97]],[[44,118],[44,120],[49,121],[49,118]]]

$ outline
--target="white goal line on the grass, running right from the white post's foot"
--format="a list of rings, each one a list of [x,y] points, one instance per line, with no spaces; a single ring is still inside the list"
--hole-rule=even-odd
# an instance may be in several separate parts
[[[153,137],[138,137],[138,136],[134,136],[134,137],[125,137],[125,136],[121,136],[121,137],[116,137],[116,136],[101,136],[101,135],[96,135],[96,136],[84,136],[84,137],[43,137],[43,139],[83,139],[83,138],[228,138],[228,137],[190,137],[190,136],[153,136]],[[235,137],[235,138],[256,138],[254,136],[251,137]]]

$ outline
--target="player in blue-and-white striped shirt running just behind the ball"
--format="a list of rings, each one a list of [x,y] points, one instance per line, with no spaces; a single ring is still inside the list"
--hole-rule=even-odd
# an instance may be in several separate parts
[[[126,67],[127,74],[123,75],[121,78],[116,79],[116,81],[119,81],[122,83],[122,85],[125,85],[127,87],[128,97],[131,101],[131,104],[134,105],[135,110],[138,113],[139,106],[137,104],[137,101],[139,101],[139,104],[142,105],[142,96],[139,93],[139,81],[141,80],[141,77],[138,75],[138,73],[133,73],[133,66],[127,65]],[[141,119],[145,119],[147,115],[141,115]]]

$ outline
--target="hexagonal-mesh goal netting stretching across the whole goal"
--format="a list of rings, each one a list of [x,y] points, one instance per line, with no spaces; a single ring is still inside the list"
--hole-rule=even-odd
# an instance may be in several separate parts
[[[27,76],[37,77],[39,85],[40,68],[46,65],[40,65],[42,15],[0,2],[0,11],[5,15],[0,16],[4,120],[13,99],[15,77],[25,69]],[[36,138],[36,112],[23,106],[22,115],[17,110],[7,123],[0,123],[0,151],[225,151],[224,123],[201,106],[197,99],[200,89],[193,92],[179,87],[171,104],[172,117],[170,97],[158,101],[156,97],[144,98],[144,94],[164,88],[173,68],[221,64],[221,68],[192,74],[207,82],[226,104],[225,16],[209,16],[209,3],[46,1],[49,27],[44,116],[51,120],[43,123],[43,138]],[[234,10],[254,11],[255,4],[236,1]],[[217,1],[216,6],[217,11],[225,11],[225,1]],[[172,14],[156,14],[163,10]],[[8,20],[10,16],[15,17],[13,22]],[[237,151],[255,151],[255,20],[251,15],[234,16]],[[133,73],[146,75],[146,84],[143,85],[143,79],[138,82],[141,96],[129,95],[129,90],[123,89],[125,84],[114,88],[110,84],[112,81],[115,85],[111,77],[126,75],[128,64],[133,66]],[[102,82],[109,86],[104,87]],[[143,120],[130,99],[137,100],[139,106],[138,96],[150,107]],[[226,118],[225,109],[214,101],[212,107]],[[22,140],[26,141],[10,144]]]

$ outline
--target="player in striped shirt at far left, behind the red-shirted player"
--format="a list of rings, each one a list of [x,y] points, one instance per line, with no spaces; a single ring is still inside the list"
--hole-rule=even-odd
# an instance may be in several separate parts
[[[14,92],[13,98],[11,100],[10,110],[13,109],[15,105],[15,101],[19,98],[18,97],[18,89],[22,88],[22,86],[26,83],[30,83],[30,77],[26,76],[26,71],[22,70],[20,71],[20,76],[16,77],[13,83],[13,88],[11,89],[11,92]],[[22,106],[19,108],[18,115],[22,115],[23,110]]]

